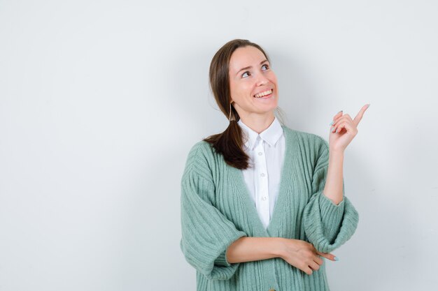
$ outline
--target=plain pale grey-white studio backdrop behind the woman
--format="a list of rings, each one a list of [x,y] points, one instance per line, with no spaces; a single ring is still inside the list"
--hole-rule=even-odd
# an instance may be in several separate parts
[[[0,1],[0,290],[195,290],[188,151],[227,126],[208,69],[259,43],[290,128],[347,147],[358,229],[332,290],[438,283],[438,2]]]

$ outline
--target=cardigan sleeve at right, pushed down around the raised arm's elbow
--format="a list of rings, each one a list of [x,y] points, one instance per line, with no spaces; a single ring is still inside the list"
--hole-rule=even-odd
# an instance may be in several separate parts
[[[350,200],[345,197],[342,181],[343,200],[334,204],[324,195],[325,179],[329,161],[329,145],[321,140],[318,159],[313,170],[312,195],[304,208],[303,224],[309,242],[322,253],[330,253],[351,238],[358,227],[359,214]]]

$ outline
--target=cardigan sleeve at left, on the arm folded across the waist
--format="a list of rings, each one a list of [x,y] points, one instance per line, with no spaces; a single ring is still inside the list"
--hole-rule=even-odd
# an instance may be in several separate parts
[[[205,163],[199,163],[199,152],[194,147],[181,181],[180,248],[185,260],[211,280],[232,278],[238,263],[229,263],[226,251],[232,242],[246,233],[236,229],[216,207],[212,197],[215,186],[209,179]]]

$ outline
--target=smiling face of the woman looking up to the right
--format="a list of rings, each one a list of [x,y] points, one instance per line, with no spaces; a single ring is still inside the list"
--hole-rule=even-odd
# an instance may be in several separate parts
[[[229,60],[229,87],[240,117],[274,114],[278,104],[277,77],[257,47],[236,49]]]

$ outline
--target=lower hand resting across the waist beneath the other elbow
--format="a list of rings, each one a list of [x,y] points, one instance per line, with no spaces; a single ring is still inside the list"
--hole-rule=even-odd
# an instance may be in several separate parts
[[[313,244],[299,239],[282,239],[282,249],[280,258],[294,267],[311,275],[313,271],[320,268],[324,257],[328,260],[336,261],[336,257],[331,253],[320,253],[316,251]]]

